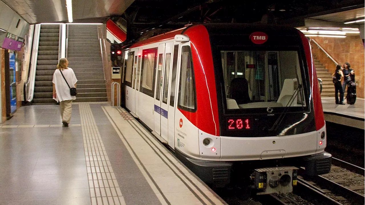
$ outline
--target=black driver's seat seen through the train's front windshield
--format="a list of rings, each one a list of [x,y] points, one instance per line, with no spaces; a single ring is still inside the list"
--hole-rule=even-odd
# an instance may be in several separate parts
[[[230,85],[230,98],[234,99],[237,104],[247,104],[251,102],[249,96],[249,86],[246,78],[234,78]]]

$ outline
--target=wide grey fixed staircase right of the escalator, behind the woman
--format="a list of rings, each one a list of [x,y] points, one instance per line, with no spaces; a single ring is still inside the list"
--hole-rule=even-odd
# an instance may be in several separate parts
[[[68,25],[67,59],[77,78],[75,102],[108,101],[97,25]]]

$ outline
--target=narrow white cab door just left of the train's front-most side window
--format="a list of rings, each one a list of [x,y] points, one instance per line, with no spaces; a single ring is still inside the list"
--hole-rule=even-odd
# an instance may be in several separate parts
[[[172,148],[175,148],[175,98],[177,91],[177,85],[178,82],[177,78],[177,65],[178,63],[178,56],[179,56],[179,45],[178,43],[174,42],[173,47],[173,54],[172,54],[172,67],[171,67],[171,74],[169,77],[170,82],[170,88],[169,88],[169,100],[168,100],[168,136],[169,136],[169,146]],[[177,99],[177,98],[176,98]]]

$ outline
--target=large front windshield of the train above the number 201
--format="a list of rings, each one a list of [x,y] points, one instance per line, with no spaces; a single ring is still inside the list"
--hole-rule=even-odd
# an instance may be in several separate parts
[[[228,111],[306,110],[298,51],[221,50],[220,54]]]

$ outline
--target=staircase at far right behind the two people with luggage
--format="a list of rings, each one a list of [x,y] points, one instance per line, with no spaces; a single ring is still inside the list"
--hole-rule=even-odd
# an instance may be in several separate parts
[[[317,78],[322,80],[322,93],[321,97],[335,97],[335,86],[332,82],[332,73],[328,72],[325,66],[320,63],[319,60],[314,58],[314,66],[316,68]],[[344,93],[344,98],[346,97],[346,90]]]

